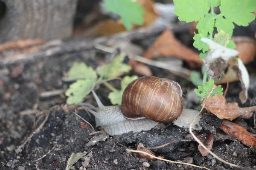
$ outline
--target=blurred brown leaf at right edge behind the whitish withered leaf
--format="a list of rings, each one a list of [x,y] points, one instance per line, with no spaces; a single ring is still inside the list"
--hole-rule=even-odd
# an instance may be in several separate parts
[[[239,51],[239,58],[244,64],[253,61],[256,56],[256,40],[250,37],[232,37],[236,44],[236,50]]]

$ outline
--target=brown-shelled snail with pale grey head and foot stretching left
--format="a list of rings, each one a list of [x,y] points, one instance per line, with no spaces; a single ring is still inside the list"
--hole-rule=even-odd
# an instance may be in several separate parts
[[[96,127],[101,126],[111,136],[151,130],[159,122],[175,121],[183,111],[180,85],[166,78],[135,79],[125,88],[121,106],[104,106],[92,93],[99,111],[88,111],[95,116]]]

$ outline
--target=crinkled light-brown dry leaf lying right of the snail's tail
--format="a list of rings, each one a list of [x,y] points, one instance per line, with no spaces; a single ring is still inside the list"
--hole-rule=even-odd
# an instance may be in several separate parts
[[[204,102],[206,102],[205,108],[215,114],[219,119],[233,120],[240,116],[248,119],[256,111],[256,106],[240,108],[237,102],[227,103],[225,97],[222,95],[209,97],[207,100],[204,99]]]

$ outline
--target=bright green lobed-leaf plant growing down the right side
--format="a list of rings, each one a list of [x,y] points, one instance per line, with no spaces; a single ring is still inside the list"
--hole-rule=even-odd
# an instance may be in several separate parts
[[[238,26],[248,26],[255,19],[253,12],[256,10],[256,0],[174,0],[174,3],[177,6],[174,12],[180,21],[186,21],[187,23],[198,21],[196,26],[198,34],[193,37],[195,40],[193,45],[198,50],[202,50],[200,54],[201,61],[204,61],[204,58],[211,50],[215,50],[213,47],[212,49],[209,47],[211,42],[207,44],[202,41],[202,38],[213,40],[222,47],[234,49],[236,45],[230,40],[235,28],[233,23]],[[218,6],[220,14],[214,12],[214,7]],[[218,31],[215,36],[213,36],[214,28]],[[221,46],[218,46],[218,48],[222,48]],[[235,56],[230,56],[228,59],[232,57]],[[214,60],[211,62],[214,62]],[[204,61],[204,64],[206,64],[206,61]],[[214,81],[211,78],[207,82],[206,69],[204,69],[203,74],[202,85],[195,89],[196,94],[202,98],[208,96],[209,91],[214,87]],[[198,82],[198,74],[193,73],[191,79],[192,82]],[[213,94],[223,94],[222,90],[223,88],[218,86],[211,96]]]

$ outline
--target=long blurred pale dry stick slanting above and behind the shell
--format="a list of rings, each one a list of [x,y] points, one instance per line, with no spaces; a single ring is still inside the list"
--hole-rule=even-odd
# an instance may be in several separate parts
[[[101,44],[96,44],[94,46],[96,49],[99,49],[101,51],[106,51],[108,53],[113,53],[115,52],[115,49],[114,48],[111,48],[111,47],[107,47],[105,45],[101,45]],[[136,61],[139,61],[139,62],[143,62],[145,64],[148,64],[148,65],[152,65],[152,66],[155,66],[155,67],[158,67],[158,68],[164,68],[166,70],[169,70],[171,71],[173,74],[176,74],[180,77],[183,77],[184,79],[187,79],[190,81],[190,74],[191,74],[191,71],[186,69],[186,68],[180,68],[180,67],[176,67],[175,68],[175,65],[176,63],[173,63],[172,65],[171,64],[166,64],[164,62],[160,62],[160,61],[153,61],[151,59],[147,59],[145,57],[141,57],[139,55],[135,55],[135,54],[131,54],[131,53],[127,53],[127,52],[124,52],[124,51],[121,51],[122,54],[124,55],[128,55],[128,57],[130,59],[134,59]],[[170,67],[172,66],[172,67]]]

